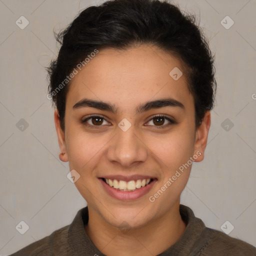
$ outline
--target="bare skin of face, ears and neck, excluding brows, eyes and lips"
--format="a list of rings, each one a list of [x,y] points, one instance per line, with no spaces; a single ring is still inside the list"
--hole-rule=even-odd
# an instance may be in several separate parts
[[[201,155],[194,161],[201,161],[207,143],[210,112],[195,129],[193,96],[184,75],[176,81],[169,75],[174,67],[182,70],[181,62],[156,46],[100,50],[71,81],[64,131],[57,110],[54,112],[59,157],[79,173],[74,184],[88,205],[89,221],[84,228],[106,255],[156,255],[174,244],[185,230],[179,202],[191,165],[154,202],[148,199],[197,151]],[[118,112],[94,107],[73,109],[85,97],[114,104]],[[136,113],[140,104],[170,97],[184,108],[165,106]],[[96,127],[81,123],[92,114],[105,118],[101,126],[95,119],[87,123]],[[157,118],[152,119],[156,114],[175,123],[165,119],[158,124]],[[125,132],[118,127],[123,118],[131,124]],[[98,177],[110,174],[150,175],[157,181],[142,197],[123,201],[108,195],[99,182]],[[128,228],[123,230],[123,226]]]

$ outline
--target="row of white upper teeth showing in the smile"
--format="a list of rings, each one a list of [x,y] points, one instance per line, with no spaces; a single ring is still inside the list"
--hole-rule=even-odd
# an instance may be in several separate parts
[[[145,186],[149,183],[150,178],[147,179],[137,179],[137,180],[130,180],[128,182],[124,180],[117,180],[117,179],[109,179],[105,178],[106,183],[109,186],[114,188],[119,188],[121,190],[135,190],[136,188],[140,188],[141,186]]]

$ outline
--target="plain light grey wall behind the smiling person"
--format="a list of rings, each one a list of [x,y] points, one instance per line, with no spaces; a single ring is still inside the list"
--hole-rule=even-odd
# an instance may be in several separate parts
[[[66,177],[68,164],[58,159],[43,66],[58,50],[53,29],[95,3],[100,0],[0,0],[0,255],[69,224],[85,206]],[[215,52],[218,85],[205,158],[193,164],[181,203],[208,227],[221,230],[228,220],[229,235],[256,246],[256,1],[178,3],[200,18]],[[29,21],[24,29],[15,24],[21,15]],[[234,21],[229,29],[221,24],[226,15]],[[28,127],[20,126],[21,118]],[[15,228],[21,220],[29,226],[23,235]]]

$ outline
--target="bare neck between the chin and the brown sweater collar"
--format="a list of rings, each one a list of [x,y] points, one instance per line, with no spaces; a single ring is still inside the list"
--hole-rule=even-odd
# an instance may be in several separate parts
[[[183,234],[185,223],[179,213],[179,200],[161,217],[143,227],[121,231],[88,207],[85,231],[93,244],[107,256],[152,256],[165,251]]]

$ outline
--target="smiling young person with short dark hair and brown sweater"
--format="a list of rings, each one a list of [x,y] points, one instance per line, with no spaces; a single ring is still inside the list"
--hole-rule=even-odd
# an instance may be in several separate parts
[[[59,158],[87,202],[12,255],[256,255],[180,204],[214,104],[213,57],[192,16],[111,0],[58,35],[49,67]]]

